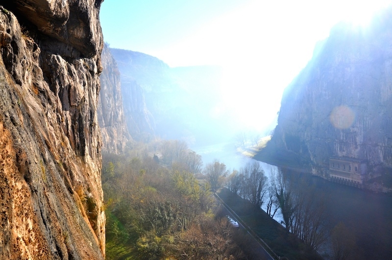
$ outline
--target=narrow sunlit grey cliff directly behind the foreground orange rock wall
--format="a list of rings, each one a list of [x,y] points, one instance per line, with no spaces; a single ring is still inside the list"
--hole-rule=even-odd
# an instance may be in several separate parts
[[[102,152],[122,153],[131,137],[124,117],[120,71],[106,45],[101,60],[103,71],[99,77],[101,89],[98,99],[98,123],[102,136]],[[131,104],[133,103],[129,105]]]

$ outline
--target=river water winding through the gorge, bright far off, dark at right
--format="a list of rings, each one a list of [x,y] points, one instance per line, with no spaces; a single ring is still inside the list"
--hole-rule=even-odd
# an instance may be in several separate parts
[[[193,147],[204,165],[217,159],[231,171],[253,161],[236,152],[232,143]],[[267,176],[275,167],[261,163]],[[298,173],[292,173],[298,174]],[[328,225],[344,225],[356,237],[356,259],[392,259],[392,196],[348,187],[313,177],[318,191],[327,198]],[[279,212],[279,211],[278,211]],[[279,213],[275,220],[280,222]]]

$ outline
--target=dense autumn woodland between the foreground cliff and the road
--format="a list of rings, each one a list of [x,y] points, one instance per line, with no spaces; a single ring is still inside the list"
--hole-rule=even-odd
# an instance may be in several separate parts
[[[196,179],[201,165],[178,141],[104,155],[107,259],[247,259],[209,183]]]

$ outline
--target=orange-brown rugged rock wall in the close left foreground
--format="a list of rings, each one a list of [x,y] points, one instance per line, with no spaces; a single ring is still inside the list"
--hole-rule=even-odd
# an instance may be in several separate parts
[[[1,0],[0,259],[103,259],[101,0]]]

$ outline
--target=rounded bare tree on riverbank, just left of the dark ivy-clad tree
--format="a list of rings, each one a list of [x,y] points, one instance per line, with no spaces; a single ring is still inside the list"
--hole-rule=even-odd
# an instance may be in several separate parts
[[[244,176],[244,195],[256,209],[263,205],[264,195],[266,194],[267,176],[259,162],[247,163],[241,168],[241,174]]]

